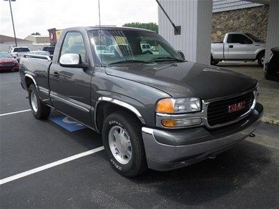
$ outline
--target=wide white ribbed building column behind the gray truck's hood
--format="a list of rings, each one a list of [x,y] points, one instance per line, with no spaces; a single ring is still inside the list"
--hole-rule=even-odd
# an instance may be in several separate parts
[[[160,0],[163,8],[181,35],[174,35],[174,28],[158,7],[159,34],[175,49],[181,50],[186,60],[210,64],[212,0]]]

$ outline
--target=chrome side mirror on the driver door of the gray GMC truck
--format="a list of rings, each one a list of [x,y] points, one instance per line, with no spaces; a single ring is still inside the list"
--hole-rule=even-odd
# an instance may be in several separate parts
[[[82,62],[80,54],[63,54],[59,63],[64,68],[86,68],[86,63]]]

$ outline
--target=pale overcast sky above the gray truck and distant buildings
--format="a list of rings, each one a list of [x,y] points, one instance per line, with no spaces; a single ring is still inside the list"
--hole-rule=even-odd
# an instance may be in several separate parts
[[[98,0],[16,0],[12,3],[17,38],[33,32],[48,35],[47,29],[99,24]],[[0,34],[13,36],[8,1],[0,0]],[[157,22],[155,0],[100,0],[102,25],[122,26],[128,22]]]

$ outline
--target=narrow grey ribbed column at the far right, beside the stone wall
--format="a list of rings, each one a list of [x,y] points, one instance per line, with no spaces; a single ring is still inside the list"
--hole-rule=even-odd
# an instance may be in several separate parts
[[[266,36],[265,61],[269,61],[271,48],[279,47],[279,1],[269,1],[269,22]]]

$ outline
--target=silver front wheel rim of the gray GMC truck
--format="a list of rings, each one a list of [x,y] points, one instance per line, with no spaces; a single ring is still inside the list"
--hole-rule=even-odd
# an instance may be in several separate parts
[[[132,158],[130,136],[119,125],[114,125],[109,132],[109,145],[114,158],[121,164],[128,164]]]

